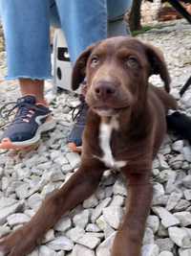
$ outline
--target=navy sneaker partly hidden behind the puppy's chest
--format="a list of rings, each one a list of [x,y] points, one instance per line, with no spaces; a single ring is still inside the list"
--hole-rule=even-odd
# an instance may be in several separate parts
[[[76,109],[78,109],[77,113],[75,113]],[[80,95],[80,104],[74,107],[72,113],[74,127],[68,137],[68,146],[72,151],[81,151],[82,133],[86,124],[87,111],[88,105],[85,102],[84,96]]]

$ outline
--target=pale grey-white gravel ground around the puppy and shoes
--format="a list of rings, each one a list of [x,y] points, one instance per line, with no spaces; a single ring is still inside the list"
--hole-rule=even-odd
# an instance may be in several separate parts
[[[169,23],[138,35],[163,51],[171,77],[172,94],[179,100],[181,85],[191,74],[191,26],[185,21]],[[0,60],[0,105],[19,96],[15,81],[4,81],[4,53]],[[155,84],[159,78],[153,77]],[[179,101],[191,114],[191,88]],[[80,157],[67,149],[66,138],[73,123],[72,94],[54,95],[46,84],[56,127],[44,134],[32,151],[0,151],[0,236],[29,221],[42,199],[73,175]],[[0,127],[5,124],[0,120]],[[2,129],[0,130],[0,133]],[[186,141],[166,136],[153,164],[154,198],[142,246],[142,256],[191,255],[191,150]],[[96,194],[77,206],[50,230],[32,256],[109,256],[117,225],[128,197],[121,175],[106,172]]]

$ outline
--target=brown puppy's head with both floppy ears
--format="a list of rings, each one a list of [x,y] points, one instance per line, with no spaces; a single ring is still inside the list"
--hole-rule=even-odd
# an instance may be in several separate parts
[[[159,74],[169,92],[170,77],[159,51],[137,39],[117,36],[81,54],[74,64],[72,87],[76,89],[86,77],[86,102],[97,114],[111,116],[143,106],[153,74]]]

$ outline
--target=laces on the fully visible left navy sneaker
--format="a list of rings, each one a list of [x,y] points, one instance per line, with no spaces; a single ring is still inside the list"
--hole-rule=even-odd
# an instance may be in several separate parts
[[[13,105],[13,106],[10,108],[8,107],[10,105]],[[24,123],[24,122],[29,123],[35,110],[38,110],[38,111],[40,110],[44,112],[43,109],[41,109],[36,105],[32,105],[26,102],[19,102],[18,100],[17,102],[11,102],[6,105],[3,105],[0,108],[0,117],[8,120],[12,114],[12,111],[15,108],[17,108],[18,110],[11,124],[15,124],[15,123],[18,124],[18,123]]]

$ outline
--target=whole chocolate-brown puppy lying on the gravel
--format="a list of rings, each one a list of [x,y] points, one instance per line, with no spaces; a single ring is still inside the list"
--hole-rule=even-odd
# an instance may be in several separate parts
[[[164,89],[149,84],[153,74],[159,74]],[[152,199],[152,159],[166,132],[165,111],[177,107],[168,94],[170,78],[156,49],[123,36],[97,43],[77,59],[74,89],[85,76],[90,110],[81,166],[61,189],[44,200],[32,221],[1,240],[0,250],[10,256],[32,251],[64,213],[96,191],[108,168],[128,180],[126,213],[112,256],[140,255]]]

